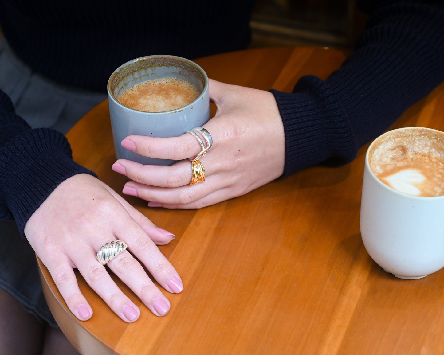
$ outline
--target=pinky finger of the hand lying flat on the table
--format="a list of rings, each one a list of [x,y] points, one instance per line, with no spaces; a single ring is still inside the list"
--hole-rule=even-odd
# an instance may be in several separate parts
[[[80,320],[88,320],[92,316],[92,308],[80,292],[74,270],[67,260],[54,260],[56,267],[47,265],[52,279],[56,283],[60,294],[68,308]]]

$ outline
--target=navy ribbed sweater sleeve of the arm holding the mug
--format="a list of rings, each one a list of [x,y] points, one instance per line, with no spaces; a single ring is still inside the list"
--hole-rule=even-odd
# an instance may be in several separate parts
[[[284,176],[350,162],[444,81],[444,2],[361,3],[370,18],[340,69],[326,81],[306,75],[292,93],[271,90],[285,130]]]

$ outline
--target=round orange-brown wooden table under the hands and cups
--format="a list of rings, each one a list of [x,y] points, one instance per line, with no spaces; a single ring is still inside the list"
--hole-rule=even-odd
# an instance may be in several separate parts
[[[326,79],[345,59],[321,48],[264,48],[197,60],[208,76],[258,89],[291,91],[301,75]],[[444,86],[410,108],[391,128],[444,130]],[[214,107],[213,107],[214,114]],[[67,135],[77,162],[121,191],[107,102]],[[161,246],[184,281],[156,317],[141,307],[135,323],[120,320],[78,276],[94,315],[68,310],[48,270],[49,306],[82,354],[441,354],[444,352],[444,269],[400,280],[369,257],[359,232],[367,146],[346,166],[315,166],[245,196],[204,209],[147,208],[127,197],[177,237]],[[444,217],[444,216],[443,216]]]

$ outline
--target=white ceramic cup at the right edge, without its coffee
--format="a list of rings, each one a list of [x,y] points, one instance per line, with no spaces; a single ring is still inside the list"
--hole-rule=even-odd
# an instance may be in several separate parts
[[[401,279],[419,279],[444,267],[444,196],[420,197],[392,189],[373,173],[369,154],[381,137],[393,132],[408,134],[417,128],[400,128],[381,135],[365,156],[362,241],[377,264]]]

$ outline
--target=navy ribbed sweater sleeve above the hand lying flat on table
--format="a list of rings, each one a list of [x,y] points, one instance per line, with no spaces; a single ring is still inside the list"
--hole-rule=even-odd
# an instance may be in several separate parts
[[[71,146],[56,130],[32,130],[0,90],[0,219],[16,220],[20,233],[32,213],[64,180],[95,174],[72,160]]]

